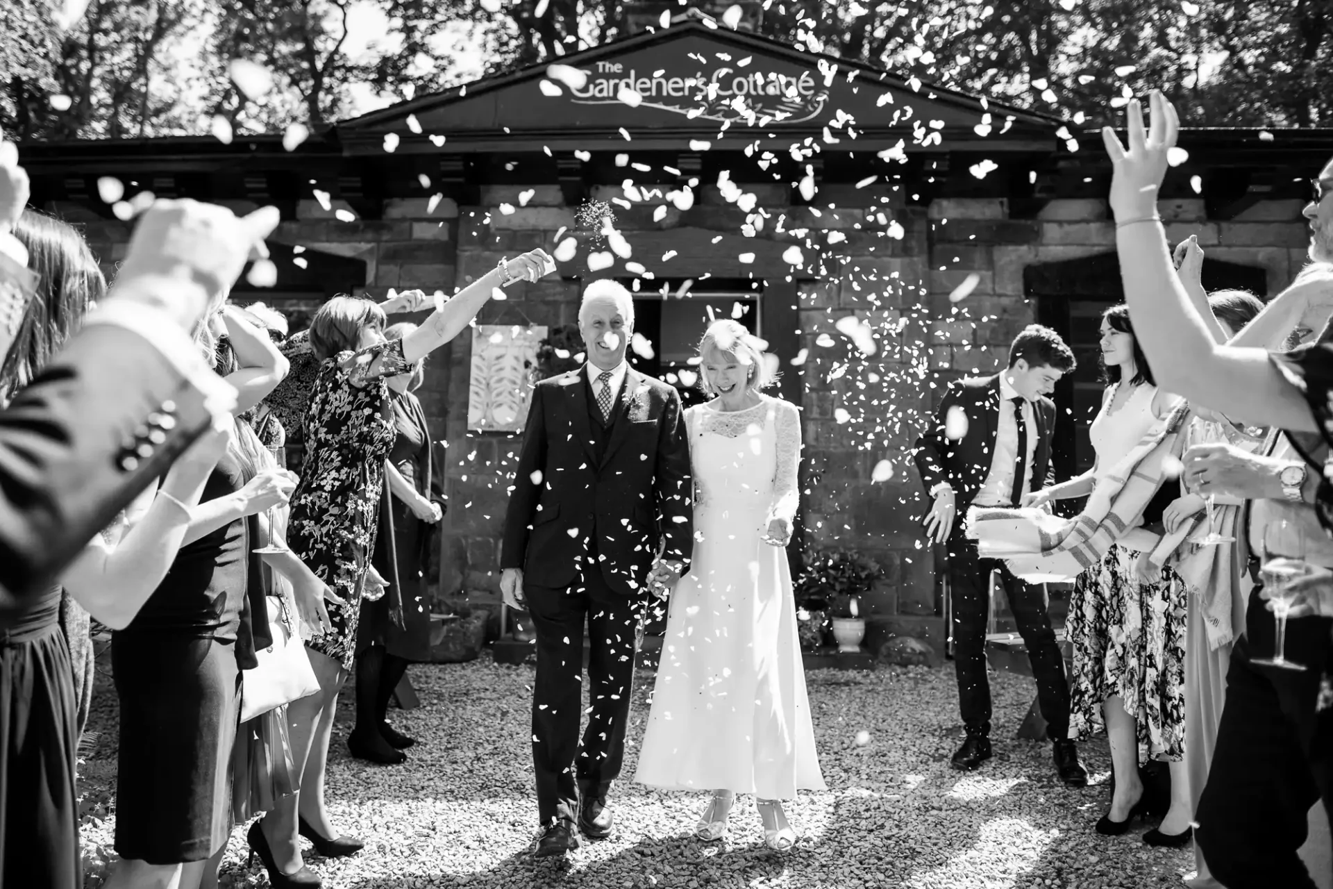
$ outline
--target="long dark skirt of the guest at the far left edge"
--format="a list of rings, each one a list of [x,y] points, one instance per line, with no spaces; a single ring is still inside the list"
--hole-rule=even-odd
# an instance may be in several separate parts
[[[60,588],[0,630],[0,889],[79,889],[75,697]]]

